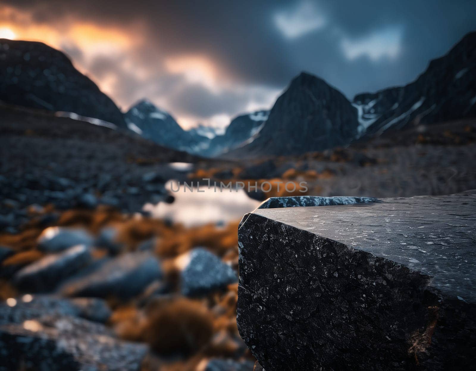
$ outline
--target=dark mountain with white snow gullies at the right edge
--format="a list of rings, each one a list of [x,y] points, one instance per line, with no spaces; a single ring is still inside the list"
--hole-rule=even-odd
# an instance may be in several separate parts
[[[367,135],[408,123],[438,123],[476,116],[476,32],[431,61],[416,81],[377,93],[357,94],[353,104]]]

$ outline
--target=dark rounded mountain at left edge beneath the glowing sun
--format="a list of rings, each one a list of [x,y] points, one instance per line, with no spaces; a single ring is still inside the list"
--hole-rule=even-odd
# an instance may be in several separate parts
[[[126,127],[116,104],[65,54],[42,42],[0,39],[0,100]]]

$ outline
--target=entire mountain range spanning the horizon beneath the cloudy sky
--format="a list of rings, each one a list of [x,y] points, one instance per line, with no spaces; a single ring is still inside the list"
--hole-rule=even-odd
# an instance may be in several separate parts
[[[473,118],[475,80],[476,32],[471,32],[414,82],[359,93],[352,102],[323,79],[302,72],[270,111],[239,115],[218,134],[204,125],[186,131],[148,100],[121,113],[64,53],[40,42],[0,39],[0,101],[91,123],[99,119],[160,145],[210,157],[301,154],[347,146],[412,123]]]

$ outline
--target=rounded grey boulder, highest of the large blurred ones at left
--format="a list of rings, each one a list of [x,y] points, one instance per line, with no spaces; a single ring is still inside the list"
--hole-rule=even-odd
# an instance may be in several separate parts
[[[93,237],[84,229],[67,227],[49,227],[38,237],[38,249],[46,252],[58,252],[76,245],[91,246]]]

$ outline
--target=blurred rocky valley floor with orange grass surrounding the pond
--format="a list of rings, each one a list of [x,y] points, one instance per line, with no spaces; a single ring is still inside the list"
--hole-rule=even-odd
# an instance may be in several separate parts
[[[168,179],[272,183],[250,193],[257,199],[476,188],[475,121],[230,162],[2,107],[0,155],[0,370],[253,369],[236,325],[238,220],[184,227],[140,213],[146,202],[173,202]]]

